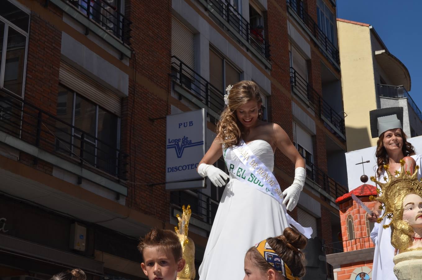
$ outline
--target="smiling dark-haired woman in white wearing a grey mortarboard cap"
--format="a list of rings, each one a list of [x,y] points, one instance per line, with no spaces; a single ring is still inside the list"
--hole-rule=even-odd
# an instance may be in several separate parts
[[[377,170],[376,175],[380,182],[385,182],[384,177],[387,176],[387,172],[384,169],[384,165],[388,164],[389,171],[394,174],[396,170],[400,171],[401,165],[400,160],[405,160],[405,170],[414,172],[415,165],[422,167],[421,155],[417,155],[414,151],[414,147],[406,139],[406,134],[403,132],[400,120],[397,115],[382,115],[383,109],[378,109],[378,135],[376,148],[377,158]],[[391,114],[388,110],[386,114]],[[403,114],[403,111],[401,112]],[[421,169],[418,171],[418,179],[421,178]],[[378,217],[381,216],[381,210],[379,210],[379,202],[374,206],[374,211],[371,215],[367,214],[368,220],[375,223]],[[375,244],[375,253],[373,259],[373,280],[397,280],[393,272],[394,262],[393,257],[395,255],[395,248],[391,245],[391,228],[384,229],[384,224],[390,223],[390,219],[387,217],[381,223],[376,223],[372,232],[371,239]]]

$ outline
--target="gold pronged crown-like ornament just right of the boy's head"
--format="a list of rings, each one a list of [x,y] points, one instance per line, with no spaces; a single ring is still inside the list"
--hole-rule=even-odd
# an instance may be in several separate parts
[[[188,226],[190,216],[192,215],[192,210],[190,205],[185,207],[182,206],[182,216],[179,214],[176,215],[177,220],[179,220],[178,226],[174,227],[177,237],[179,238],[180,244],[182,245],[183,258],[186,261],[186,264],[181,272],[177,273],[177,279],[179,280],[193,280],[195,279],[195,244],[187,237]]]

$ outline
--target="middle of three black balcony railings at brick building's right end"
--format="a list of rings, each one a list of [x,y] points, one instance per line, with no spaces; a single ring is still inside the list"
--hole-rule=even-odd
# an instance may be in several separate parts
[[[342,142],[346,141],[344,117],[328,105],[293,67],[290,68],[290,83],[292,84],[293,92],[324,120],[325,127]]]

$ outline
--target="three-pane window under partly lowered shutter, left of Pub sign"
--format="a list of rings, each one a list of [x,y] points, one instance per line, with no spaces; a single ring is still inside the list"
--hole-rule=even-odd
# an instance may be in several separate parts
[[[57,97],[57,117],[64,122],[56,124],[60,140],[57,150],[76,158],[83,155],[90,165],[116,174],[119,117],[62,85]]]

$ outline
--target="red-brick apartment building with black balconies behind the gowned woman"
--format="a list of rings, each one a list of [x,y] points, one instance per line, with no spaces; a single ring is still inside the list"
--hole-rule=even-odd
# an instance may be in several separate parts
[[[242,79],[306,159],[291,213],[314,229],[305,279],[332,277],[320,248],[341,231],[335,198],[347,192],[334,1],[0,2],[0,277],[80,266],[143,278],[138,238],[174,228],[181,204],[199,266],[222,189],[165,190],[165,116],[206,109],[209,147],[224,90]],[[293,180],[279,151],[274,174],[282,188]],[[84,250],[69,245],[75,227]]]

